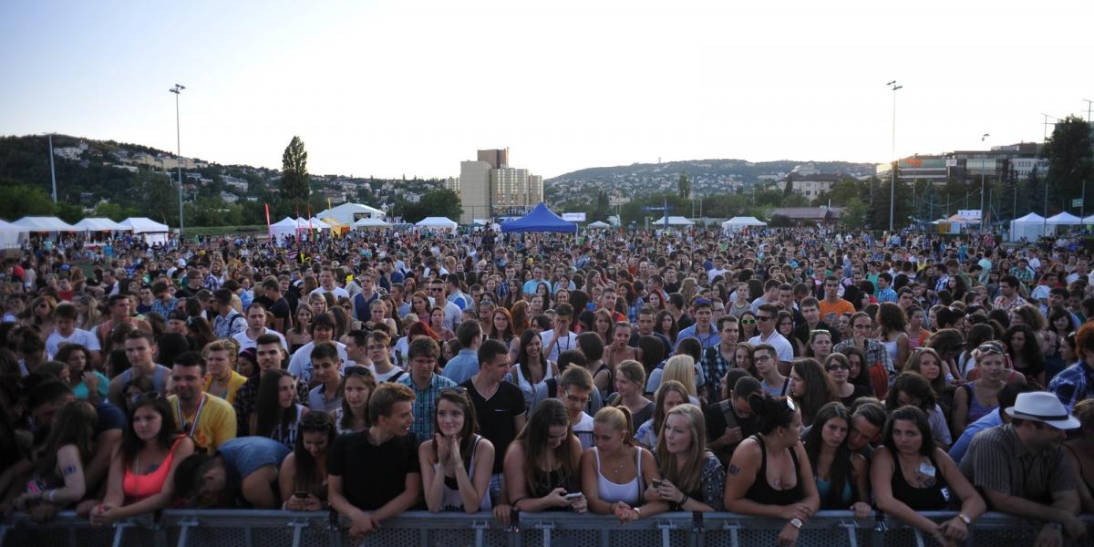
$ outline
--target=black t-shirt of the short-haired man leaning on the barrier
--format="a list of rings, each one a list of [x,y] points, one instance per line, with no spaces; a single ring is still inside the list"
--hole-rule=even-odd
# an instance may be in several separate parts
[[[341,477],[342,496],[362,511],[375,511],[406,491],[406,477],[421,473],[412,434],[379,446],[369,430],[338,435],[327,456],[327,473]]]

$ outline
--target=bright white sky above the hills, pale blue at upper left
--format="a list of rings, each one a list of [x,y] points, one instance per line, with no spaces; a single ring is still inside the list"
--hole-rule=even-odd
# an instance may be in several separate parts
[[[1094,2],[0,3],[0,135],[316,174],[555,176],[633,162],[891,158],[1039,140],[1094,100]]]

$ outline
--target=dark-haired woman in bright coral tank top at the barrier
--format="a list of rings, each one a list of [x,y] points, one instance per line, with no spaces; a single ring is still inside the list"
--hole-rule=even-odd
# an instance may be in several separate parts
[[[102,525],[151,513],[171,504],[175,467],[194,453],[194,441],[178,434],[165,397],[152,392],[129,407],[121,446],[110,458],[106,497],[91,511]]]

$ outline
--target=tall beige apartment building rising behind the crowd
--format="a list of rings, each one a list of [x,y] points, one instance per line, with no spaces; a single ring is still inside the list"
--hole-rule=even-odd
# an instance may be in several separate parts
[[[544,199],[544,179],[526,168],[509,166],[509,149],[479,150],[476,161],[459,163],[459,181],[449,185],[459,194],[459,222],[523,214]]]

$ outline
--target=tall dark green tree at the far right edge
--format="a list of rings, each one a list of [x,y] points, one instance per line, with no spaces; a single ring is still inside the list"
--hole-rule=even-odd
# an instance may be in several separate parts
[[[1083,182],[1094,182],[1094,149],[1091,148],[1091,126],[1078,116],[1068,116],[1052,130],[1041,156],[1048,160],[1049,202],[1060,203],[1080,196]],[[1090,186],[1090,185],[1087,185]]]

